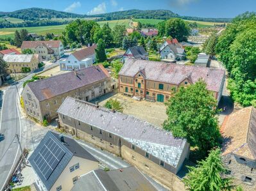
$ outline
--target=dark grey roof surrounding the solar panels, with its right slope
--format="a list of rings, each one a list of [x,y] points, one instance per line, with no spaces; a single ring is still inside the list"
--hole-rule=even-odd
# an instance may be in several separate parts
[[[44,144],[46,144],[46,142],[49,140],[49,138],[53,139],[55,141],[55,143],[65,151],[65,155],[60,160],[60,162],[58,163],[56,168],[53,170],[53,172],[51,173],[49,178],[46,180],[46,178],[44,178],[43,174],[38,169],[38,167],[37,167],[38,164],[35,164],[34,159],[37,157],[37,155],[40,155],[39,154],[40,150],[42,149]],[[47,190],[50,190],[51,187],[53,187],[55,181],[58,179],[60,174],[62,174],[62,171],[64,171],[65,167],[67,166],[67,164],[69,163],[69,161],[71,160],[71,158],[73,156],[78,156],[81,158],[86,158],[88,160],[93,160],[93,161],[98,162],[98,160],[96,160],[96,158],[92,157],[92,155],[90,155],[90,153],[88,151],[83,149],[80,146],[80,144],[78,144],[73,139],[64,137],[64,140],[65,140],[66,144],[63,144],[60,141],[59,134],[56,134],[54,132],[47,132],[47,134],[44,136],[42,141],[40,141],[40,143],[38,144],[35,151],[33,151],[33,153],[31,154],[30,158],[28,158],[28,161],[30,162],[31,166],[33,167],[34,171],[37,173],[37,176],[40,178],[42,183],[44,183],[44,186],[47,188]],[[74,153],[74,152],[76,152],[76,153]]]

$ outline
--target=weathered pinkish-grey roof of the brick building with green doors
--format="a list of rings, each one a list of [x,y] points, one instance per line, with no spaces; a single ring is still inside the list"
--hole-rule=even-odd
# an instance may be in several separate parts
[[[126,59],[119,75],[134,77],[140,70],[144,70],[146,80],[166,82],[177,86],[187,78],[191,79],[192,83],[203,79],[207,84],[207,89],[215,92],[221,89],[222,80],[225,77],[225,70],[221,69],[141,59]]]

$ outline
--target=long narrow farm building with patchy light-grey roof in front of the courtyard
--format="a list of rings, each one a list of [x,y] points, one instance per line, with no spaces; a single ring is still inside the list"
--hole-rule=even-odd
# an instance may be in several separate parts
[[[121,112],[67,97],[60,126],[80,139],[119,155],[171,190],[185,190],[176,174],[189,157],[189,143],[171,132]]]

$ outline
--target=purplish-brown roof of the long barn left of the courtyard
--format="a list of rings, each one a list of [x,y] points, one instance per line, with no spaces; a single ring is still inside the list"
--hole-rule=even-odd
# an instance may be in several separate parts
[[[107,70],[102,65],[98,65],[30,82],[28,87],[41,102],[108,77],[110,75]]]

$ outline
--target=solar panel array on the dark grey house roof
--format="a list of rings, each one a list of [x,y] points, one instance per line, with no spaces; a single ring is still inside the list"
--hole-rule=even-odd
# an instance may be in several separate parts
[[[49,137],[33,161],[47,180],[64,155],[65,151]]]

